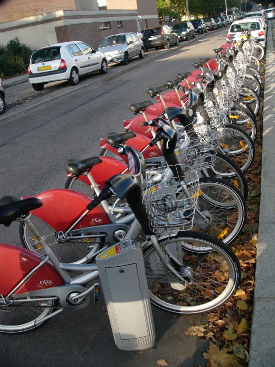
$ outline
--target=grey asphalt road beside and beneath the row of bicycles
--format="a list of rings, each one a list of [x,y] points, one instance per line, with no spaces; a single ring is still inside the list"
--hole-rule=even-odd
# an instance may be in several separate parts
[[[63,188],[68,158],[100,152],[99,141],[111,131],[123,131],[133,118],[127,104],[150,99],[147,87],[160,86],[176,73],[192,71],[201,57],[225,41],[227,29],[184,46],[163,59],[110,81],[78,92],[63,103],[46,107],[0,127],[0,196],[35,195]],[[19,244],[18,223],[1,227],[0,241]],[[1,280],[3,281],[3,280]],[[142,353],[120,352],[112,340],[103,296],[77,312],[64,311],[47,325],[22,335],[0,334],[0,366],[205,366],[201,350],[207,345],[184,331],[194,316],[174,317],[154,309],[157,347]],[[202,316],[197,316],[202,317]],[[205,365],[204,365],[205,364]]]

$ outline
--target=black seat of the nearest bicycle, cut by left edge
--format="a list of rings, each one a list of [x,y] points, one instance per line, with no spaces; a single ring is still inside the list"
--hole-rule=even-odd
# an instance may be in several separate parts
[[[18,200],[14,196],[3,196],[0,199],[0,224],[7,227],[17,218],[40,207],[42,202],[38,198]]]

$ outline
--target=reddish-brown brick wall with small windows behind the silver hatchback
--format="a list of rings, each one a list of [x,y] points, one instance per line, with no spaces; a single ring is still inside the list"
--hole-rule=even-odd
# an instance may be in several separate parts
[[[98,23],[71,24],[55,27],[57,41],[68,42],[81,40],[96,48],[107,36],[116,33],[135,32],[137,28],[136,20],[123,20],[122,27],[117,26],[117,21],[110,22],[111,28],[99,29]]]

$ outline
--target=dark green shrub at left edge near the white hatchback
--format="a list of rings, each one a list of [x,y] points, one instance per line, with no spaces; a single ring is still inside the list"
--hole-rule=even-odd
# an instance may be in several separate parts
[[[33,50],[20,42],[18,37],[0,45],[0,74],[10,76],[26,73]]]

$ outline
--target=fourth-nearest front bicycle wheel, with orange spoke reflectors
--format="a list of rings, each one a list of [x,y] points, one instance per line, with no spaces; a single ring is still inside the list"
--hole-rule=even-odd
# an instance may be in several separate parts
[[[234,125],[225,125],[219,149],[221,153],[229,156],[243,172],[250,168],[256,155],[255,145],[250,136]]]

